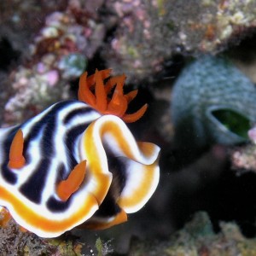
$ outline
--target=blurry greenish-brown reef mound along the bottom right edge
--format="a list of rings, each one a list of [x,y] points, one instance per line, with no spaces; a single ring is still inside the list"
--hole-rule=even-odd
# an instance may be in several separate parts
[[[247,239],[235,223],[220,223],[220,231],[212,230],[206,212],[197,212],[194,218],[168,241],[131,241],[132,256],[177,255],[255,255],[255,239]]]

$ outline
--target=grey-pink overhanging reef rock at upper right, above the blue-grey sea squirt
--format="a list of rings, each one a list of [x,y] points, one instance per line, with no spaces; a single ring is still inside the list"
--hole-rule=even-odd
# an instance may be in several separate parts
[[[123,0],[108,4],[122,22],[105,58],[116,72],[125,70],[131,81],[153,79],[172,55],[224,49],[231,38],[241,38],[256,24],[254,1]]]

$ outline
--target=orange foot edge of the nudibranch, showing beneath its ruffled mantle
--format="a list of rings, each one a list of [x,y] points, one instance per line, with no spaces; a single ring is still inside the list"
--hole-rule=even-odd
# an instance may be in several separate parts
[[[121,224],[123,222],[127,221],[127,214],[126,212],[121,209],[121,212],[119,212],[111,221],[102,222],[95,220],[89,220],[88,222],[84,222],[84,224],[81,224],[79,227],[83,229],[89,229],[89,230],[105,230],[108,229],[114,225]]]

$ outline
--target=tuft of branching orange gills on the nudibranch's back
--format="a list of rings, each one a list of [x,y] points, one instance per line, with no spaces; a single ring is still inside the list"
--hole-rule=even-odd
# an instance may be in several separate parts
[[[110,69],[96,70],[96,73],[89,77],[87,72],[83,73],[79,81],[79,101],[89,104],[102,114],[116,115],[127,123],[137,121],[146,112],[148,105],[145,104],[135,113],[125,113],[128,104],[137,96],[137,90],[124,94],[125,75],[110,78],[110,73]],[[105,79],[108,79],[106,84]],[[113,87],[113,96],[110,98]]]

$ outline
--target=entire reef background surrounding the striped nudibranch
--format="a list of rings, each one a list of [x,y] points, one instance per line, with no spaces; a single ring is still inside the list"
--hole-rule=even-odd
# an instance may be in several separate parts
[[[11,222],[0,250],[256,253],[255,1],[9,0],[0,24],[2,127],[76,97],[84,70],[111,68],[140,89],[131,112],[148,102],[129,128],[161,148],[160,185],[128,223],[44,240]]]

